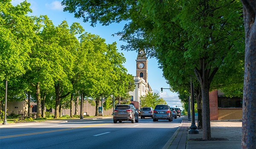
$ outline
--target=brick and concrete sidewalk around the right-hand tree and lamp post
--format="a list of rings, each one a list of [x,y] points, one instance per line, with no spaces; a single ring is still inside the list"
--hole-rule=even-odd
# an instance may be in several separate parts
[[[195,123],[197,125],[197,119]],[[172,138],[163,149],[241,149],[241,126],[239,120],[215,120],[211,121],[212,140],[203,141],[203,130],[198,129],[199,134],[189,134],[191,121],[183,118],[181,126],[176,130]]]

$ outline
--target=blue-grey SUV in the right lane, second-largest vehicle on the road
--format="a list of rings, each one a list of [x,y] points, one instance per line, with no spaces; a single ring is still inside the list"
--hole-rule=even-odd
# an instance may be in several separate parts
[[[158,120],[172,121],[172,112],[168,105],[157,105],[153,112],[153,122]]]

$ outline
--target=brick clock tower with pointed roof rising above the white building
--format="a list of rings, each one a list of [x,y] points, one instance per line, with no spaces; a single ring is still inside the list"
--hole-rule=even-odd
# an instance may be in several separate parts
[[[148,83],[148,60],[143,50],[140,50],[136,60],[136,76],[141,77]]]

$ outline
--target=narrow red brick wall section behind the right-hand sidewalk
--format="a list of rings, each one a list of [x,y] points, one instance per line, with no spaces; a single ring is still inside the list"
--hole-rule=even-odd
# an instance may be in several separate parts
[[[210,120],[218,120],[218,91],[209,92]]]

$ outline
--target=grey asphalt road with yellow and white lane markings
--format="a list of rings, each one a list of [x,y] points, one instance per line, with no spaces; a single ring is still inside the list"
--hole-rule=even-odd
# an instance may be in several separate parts
[[[183,117],[139,123],[79,119],[0,126],[0,149],[162,149]]]

